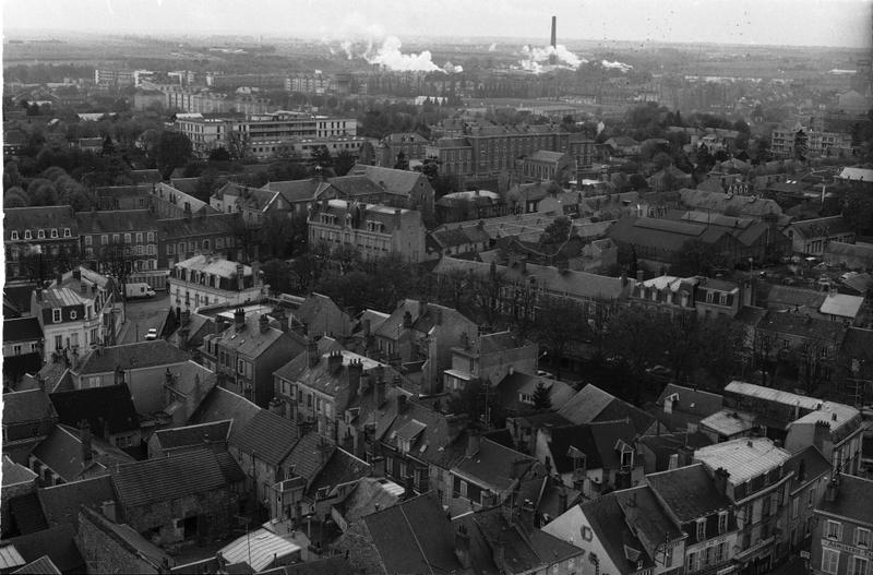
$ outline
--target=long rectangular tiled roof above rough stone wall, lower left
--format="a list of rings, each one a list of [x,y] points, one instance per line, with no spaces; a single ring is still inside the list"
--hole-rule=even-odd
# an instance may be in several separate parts
[[[172,501],[227,486],[216,455],[208,450],[122,465],[112,472],[112,479],[125,507]]]

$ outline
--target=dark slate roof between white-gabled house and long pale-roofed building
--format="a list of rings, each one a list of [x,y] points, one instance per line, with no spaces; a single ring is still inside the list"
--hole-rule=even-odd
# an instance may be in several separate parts
[[[730,500],[718,492],[703,464],[649,474],[646,480],[681,523],[731,506]]]

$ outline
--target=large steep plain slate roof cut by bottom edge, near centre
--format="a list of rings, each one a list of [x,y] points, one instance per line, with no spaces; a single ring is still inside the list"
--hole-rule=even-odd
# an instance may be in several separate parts
[[[386,573],[461,572],[454,532],[433,493],[363,517]]]

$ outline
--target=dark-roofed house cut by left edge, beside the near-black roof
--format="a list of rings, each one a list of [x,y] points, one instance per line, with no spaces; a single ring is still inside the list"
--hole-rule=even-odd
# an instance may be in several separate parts
[[[3,456],[27,466],[31,452],[58,422],[58,412],[44,390],[3,394]]]

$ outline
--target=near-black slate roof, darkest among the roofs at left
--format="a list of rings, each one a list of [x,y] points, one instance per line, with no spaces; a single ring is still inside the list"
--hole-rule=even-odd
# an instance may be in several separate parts
[[[86,419],[94,435],[140,430],[140,418],[127,384],[59,392],[49,396],[58,411],[58,422],[77,428]]]

